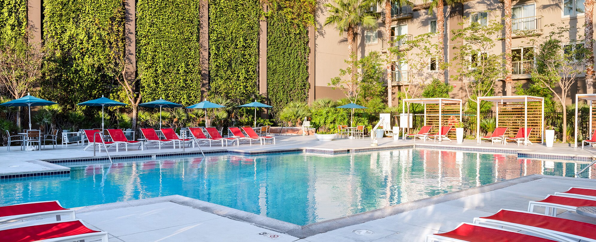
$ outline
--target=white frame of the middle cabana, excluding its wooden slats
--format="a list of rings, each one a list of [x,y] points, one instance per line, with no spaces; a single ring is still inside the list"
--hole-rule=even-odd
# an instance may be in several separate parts
[[[480,143],[480,102],[496,103],[496,127],[499,127],[499,103],[523,102],[524,103],[524,130],[527,130],[527,102],[541,102],[541,140],[544,143],[544,98],[536,96],[486,96],[476,98],[476,142]],[[528,134],[528,137],[530,135]],[[527,142],[527,139],[526,139]]]

